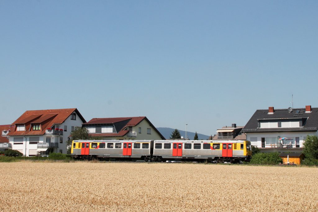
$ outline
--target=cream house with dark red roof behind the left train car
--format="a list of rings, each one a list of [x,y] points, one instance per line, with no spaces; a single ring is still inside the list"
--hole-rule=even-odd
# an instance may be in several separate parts
[[[91,136],[104,140],[165,140],[145,116],[93,118],[82,125]]]

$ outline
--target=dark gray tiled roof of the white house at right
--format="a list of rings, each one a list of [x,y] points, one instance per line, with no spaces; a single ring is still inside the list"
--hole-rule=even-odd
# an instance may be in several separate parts
[[[298,113],[297,113],[298,112]],[[303,127],[279,127],[279,128],[259,128],[261,120],[301,120]],[[247,122],[241,132],[300,132],[318,130],[318,108],[312,107],[311,113],[305,113],[305,108],[294,108],[292,112],[288,109],[275,109],[273,114],[268,114],[266,110],[256,110],[251,119]]]

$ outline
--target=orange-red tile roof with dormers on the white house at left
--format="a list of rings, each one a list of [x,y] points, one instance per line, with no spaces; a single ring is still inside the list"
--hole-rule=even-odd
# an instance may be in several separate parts
[[[62,124],[73,112],[76,112],[79,118],[86,122],[82,115],[76,108],[69,109],[53,109],[53,110],[29,110],[25,111],[16,121],[12,123],[13,126],[16,124],[24,124],[24,131],[11,130],[8,133],[12,135],[43,135],[48,127],[52,127],[54,124]],[[32,130],[31,124],[37,123],[41,125],[41,130]]]

